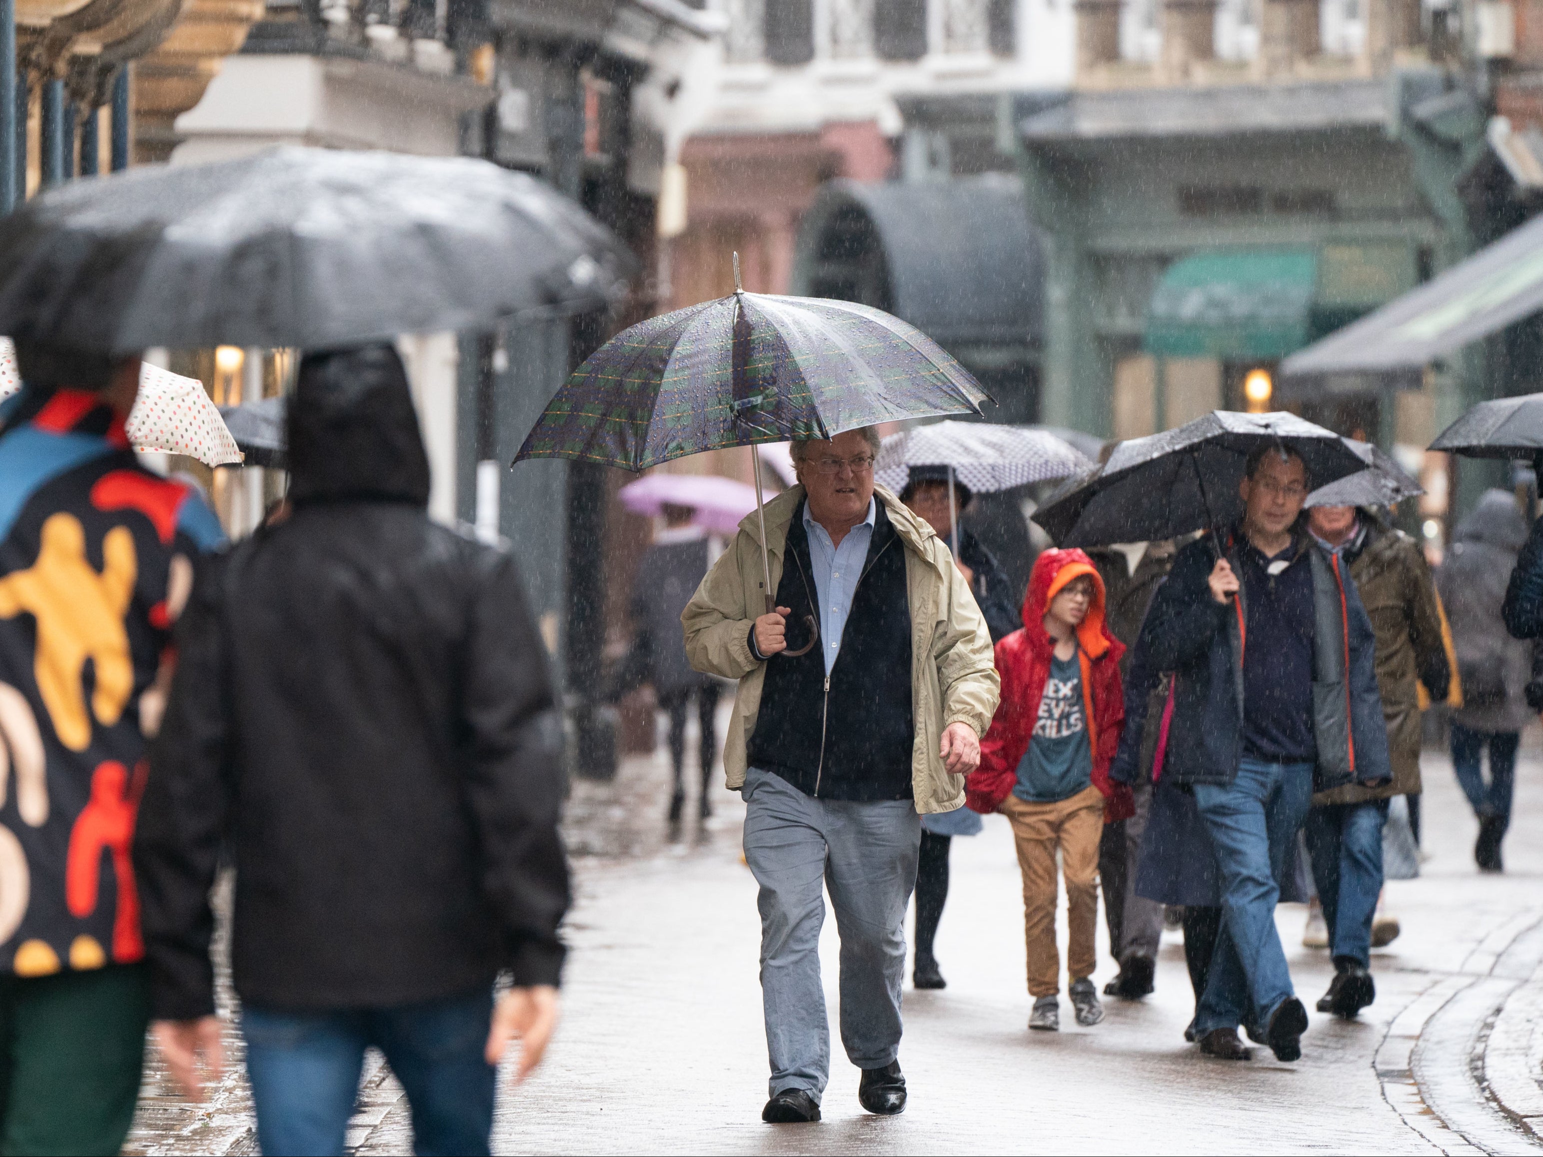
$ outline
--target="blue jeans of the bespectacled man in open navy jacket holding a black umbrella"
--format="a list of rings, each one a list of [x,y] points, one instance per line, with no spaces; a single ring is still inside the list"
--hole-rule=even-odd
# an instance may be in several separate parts
[[[1312,764],[1244,759],[1231,784],[1194,785],[1222,875],[1222,933],[1194,1012],[1197,1037],[1237,1024],[1262,1031],[1295,995],[1275,906],[1312,798]]]

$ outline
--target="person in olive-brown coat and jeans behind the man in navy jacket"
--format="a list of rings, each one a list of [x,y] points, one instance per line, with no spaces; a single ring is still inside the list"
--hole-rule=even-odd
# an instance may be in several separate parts
[[[1446,697],[1441,612],[1424,554],[1370,509],[1315,506],[1308,531],[1349,568],[1376,634],[1376,685],[1393,778],[1381,787],[1347,784],[1313,796],[1307,852],[1329,932],[1335,978],[1319,1012],[1355,1017],[1372,1003],[1373,923],[1383,893],[1383,825],[1389,799],[1420,794],[1420,693]],[[1384,924],[1383,943],[1398,935]]]

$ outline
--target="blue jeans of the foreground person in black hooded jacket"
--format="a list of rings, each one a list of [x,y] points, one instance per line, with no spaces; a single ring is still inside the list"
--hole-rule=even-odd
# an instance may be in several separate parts
[[[373,1044],[407,1092],[414,1152],[488,1152],[497,1072],[483,1060],[491,1017],[492,986],[392,1009],[247,1004],[241,1031],[258,1145],[272,1154],[341,1154],[364,1049]]]

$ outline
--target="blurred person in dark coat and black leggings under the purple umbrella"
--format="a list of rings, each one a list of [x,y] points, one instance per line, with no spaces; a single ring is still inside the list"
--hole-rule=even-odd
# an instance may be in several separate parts
[[[691,602],[714,557],[707,531],[691,523],[694,515],[696,511],[690,506],[665,503],[665,529],[654,535],[654,543],[643,554],[633,578],[631,609],[637,631],[633,646],[643,662],[637,682],[654,685],[659,707],[670,716],[670,765],[674,771],[674,788],[670,793],[671,839],[679,838],[685,811],[685,722],[693,699],[701,728],[701,819],[713,815],[707,782],[713,774],[713,761],[717,759],[719,682],[691,670],[680,642],[680,612]]]

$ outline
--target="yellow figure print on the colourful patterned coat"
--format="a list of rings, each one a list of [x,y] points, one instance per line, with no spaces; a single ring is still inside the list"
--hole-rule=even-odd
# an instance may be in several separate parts
[[[134,535],[114,526],[102,540],[102,572],[86,560],[86,535],[73,514],[43,523],[37,562],[0,578],[0,619],[26,612],[37,620],[37,691],[54,720],[54,734],[71,751],[91,742],[85,663],[96,688],[91,711],[103,727],[123,714],[134,690],[123,612],[134,597]]]

